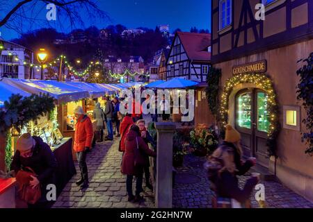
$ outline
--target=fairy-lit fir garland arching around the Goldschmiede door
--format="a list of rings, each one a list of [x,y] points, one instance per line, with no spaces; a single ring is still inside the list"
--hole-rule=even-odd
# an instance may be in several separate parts
[[[232,89],[241,83],[254,83],[257,87],[264,89],[268,94],[268,112],[270,119],[270,126],[268,129],[268,139],[266,145],[268,146],[268,155],[275,156],[276,154],[276,139],[280,132],[279,121],[279,105],[271,78],[266,74],[238,74],[229,78],[225,83],[224,92],[221,96],[219,120],[222,125],[222,132],[225,131],[225,126],[228,123],[228,98]],[[223,134],[223,133],[222,133]]]

